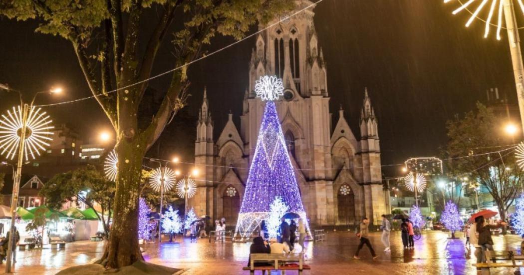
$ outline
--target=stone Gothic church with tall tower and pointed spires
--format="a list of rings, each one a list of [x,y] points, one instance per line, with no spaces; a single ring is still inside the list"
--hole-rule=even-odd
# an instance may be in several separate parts
[[[297,10],[312,4],[308,0],[297,3]],[[224,217],[228,226],[237,221],[266,104],[254,92],[255,81],[263,75],[277,75],[285,87],[275,104],[310,224],[356,225],[362,217],[379,223],[380,215],[390,212],[370,97],[367,90],[362,91],[359,139],[342,109],[338,121],[332,122],[326,62],[312,9],[258,35],[239,127],[229,114],[221,134],[213,136],[213,106],[204,90],[195,141],[195,166],[200,174],[195,179],[196,194],[189,201],[197,215]]]

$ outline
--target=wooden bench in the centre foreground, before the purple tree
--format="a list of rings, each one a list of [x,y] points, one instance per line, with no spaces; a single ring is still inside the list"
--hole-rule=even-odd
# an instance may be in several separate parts
[[[262,274],[271,270],[298,270],[299,275],[303,270],[310,270],[311,267],[304,265],[304,255],[297,254],[250,254],[248,267],[242,270],[249,270],[249,274],[254,275],[255,270],[261,270]],[[255,262],[267,263],[267,266],[255,266]],[[291,264],[290,264],[291,263]]]

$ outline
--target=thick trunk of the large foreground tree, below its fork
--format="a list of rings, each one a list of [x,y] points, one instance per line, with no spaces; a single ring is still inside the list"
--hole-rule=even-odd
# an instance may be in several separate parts
[[[135,138],[121,139],[116,146],[118,174],[113,224],[101,263],[106,268],[121,268],[144,260],[138,246],[138,197],[143,144]]]

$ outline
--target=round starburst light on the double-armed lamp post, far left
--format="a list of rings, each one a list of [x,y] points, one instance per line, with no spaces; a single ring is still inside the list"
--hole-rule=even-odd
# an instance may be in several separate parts
[[[7,159],[13,159],[20,146],[20,135],[22,130],[23,111],[22,107],[13,107],[7,111],[7,115],[2,115],[0,120],[0,155],[6,154]],[[26,123],[26,138],[24,145],[24,157],[29,160],[29,156],[35,159],[40,156],[40,151],[46,150],[50,146],[53,132],[51,129],[52,120],[50,116],[42,111],[42,108],[32,106],[29,109]]]

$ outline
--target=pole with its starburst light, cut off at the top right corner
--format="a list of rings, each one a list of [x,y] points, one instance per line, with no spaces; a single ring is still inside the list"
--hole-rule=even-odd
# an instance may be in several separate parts
[[[444,0],[444,3],[451,2],[451,0]],[[509,50],[511,52],[511,61],[513,63],[513,74],[515,78],[515,85],[517,88],[517,98],[520,109],[520,121],[522,123],[522,129],[524,129],[524,64],[522,63],[522,52],[520,50],[520,38],[519,28],[517,26],[517,17],[515,14],[515,2],[518,2],[520,9],[524,13],[524,2],[522,0],[484,0],[474,7],[472,5],[475,0],[457,0],[460,7],[453,11],[453,14],[457,14],[462,10],[466,10],[471,14],[470,19],[467,20],[466,27],[469,27],[475,18],[484,21],[486,24],[484,30],[484,38],[488,36],[490,26],[497,27],[497,40],[500,40],[500,30],[502,27],[503,16],[506,23],[506,29],[508,31],[508,42]],[[489,5],[486,5],[490,2]],[[498,2],[498,3],[497,3]],[[483,19],[479,17],[479,13],[484,7],[489,7],[489,13],[487,18]],[[473,11],[473,12],[472,12]],[[492,23],[495,14],[497,16],[496,23]]]

